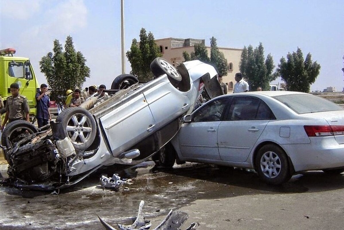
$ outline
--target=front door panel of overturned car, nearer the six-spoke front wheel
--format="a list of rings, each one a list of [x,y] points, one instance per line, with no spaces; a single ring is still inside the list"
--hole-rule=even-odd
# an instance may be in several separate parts
[[[127,150],[154,132],[154,119],[143,94],[100,118],[112,154]]]

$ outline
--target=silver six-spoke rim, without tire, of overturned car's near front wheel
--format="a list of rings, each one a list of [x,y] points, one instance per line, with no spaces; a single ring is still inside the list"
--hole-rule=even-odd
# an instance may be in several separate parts
[[[81,145],[91,138],[92,128],[91,120],[86,115],[78,113],[68,119],[66,131],[74,144]]]

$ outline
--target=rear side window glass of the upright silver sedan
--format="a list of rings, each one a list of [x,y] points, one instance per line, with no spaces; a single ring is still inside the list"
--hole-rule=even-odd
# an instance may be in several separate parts
[[[227,120],[273,119],[270,108],[256,97],[235,97]]]

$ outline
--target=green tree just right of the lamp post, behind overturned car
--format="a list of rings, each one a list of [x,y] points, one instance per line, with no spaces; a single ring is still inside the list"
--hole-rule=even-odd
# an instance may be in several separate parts
[[[153,80],[153,74],[150,71],[150,64],[156,57],[161,57],[160,49],[154,41],[154,35],[146,29],[140,30],[140,42],[132,40],[130,51],[126,53],[131,64],[130,74],[137,75],[140,82]]]

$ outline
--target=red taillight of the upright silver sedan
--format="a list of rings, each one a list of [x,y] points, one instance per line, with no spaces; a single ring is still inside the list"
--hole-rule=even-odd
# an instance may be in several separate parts
[[[309,137],[344,134],[344,125],[305,125],[303,127]]]

